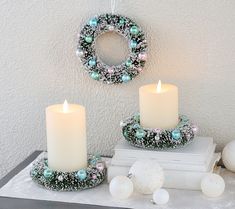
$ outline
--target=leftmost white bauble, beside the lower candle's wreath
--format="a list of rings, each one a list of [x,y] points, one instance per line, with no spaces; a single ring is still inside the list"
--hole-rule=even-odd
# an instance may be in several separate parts
[[[116,176],[109,184],[109,191],[116,199],[127,199],[133,193],[133,183],[126,176]]]

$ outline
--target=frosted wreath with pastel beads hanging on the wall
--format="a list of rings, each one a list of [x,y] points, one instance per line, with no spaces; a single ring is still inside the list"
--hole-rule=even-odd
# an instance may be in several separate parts
[[[97,37],[116,32],[128,40],[129,55],[121,64],[109,66],[96,54]],[[78,40],[76,54],[90,77],[106,84],[127,83],[143,69],[147,59],[147,42],[144,32],[130,18],[117,14],[102,14],[84,25]]]

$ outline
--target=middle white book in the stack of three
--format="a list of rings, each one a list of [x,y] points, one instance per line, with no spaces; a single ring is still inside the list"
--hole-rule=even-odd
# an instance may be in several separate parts
[[[204,163],[195,163],[195,162],[168,162],[167,160],[159,161],[154,156],[153,157],[140,157],[139,155],[133,157],[133,158],[118,158],[116,154],[113,156],[111,160],[111,165],[117,165],[117,166],[131,166],[135,161],[141,160],[141,159],[154,159],[157,160],[158,163],[162,166],[163,169],[167,170],[182,170],[182,171],[201,171],[206,172],[209,169],[209,164],[211,161],[211,158],[213,157],[213,154],[215,152],[216,144],[214,144],[211,147],[211,150],[209,152],[209,155],[207,156],[207,159]]]

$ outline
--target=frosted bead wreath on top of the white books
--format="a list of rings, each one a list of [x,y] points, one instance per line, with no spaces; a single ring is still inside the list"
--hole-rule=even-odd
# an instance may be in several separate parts
[[[179,123],[173,129],[149,129],[141,127],[140,116],[134,116],[121,121],[124,138],[133,146],[144,149],[174,149],[189,144],[198,128],[187,116],[180,116]]]

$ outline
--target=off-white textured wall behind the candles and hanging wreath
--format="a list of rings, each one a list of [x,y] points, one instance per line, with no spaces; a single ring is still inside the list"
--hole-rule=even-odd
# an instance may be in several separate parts
[[[86,106],[89,152],[111,154],[119,121],[138,111],[138,88],[158,79],[179,87],[180,112],[218,149],[234,139],[235,1],[117,3],[146,31],[149,60],[130,83],[108,86],[87,76],[75,50],[82,24],[110,12],[109,0],[0,1],[0,177],[46,149],[45,107],[65,98]],[[115,63],[126,53],[120,44],[101,37],[99,52]]]

